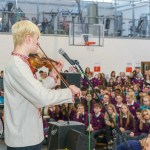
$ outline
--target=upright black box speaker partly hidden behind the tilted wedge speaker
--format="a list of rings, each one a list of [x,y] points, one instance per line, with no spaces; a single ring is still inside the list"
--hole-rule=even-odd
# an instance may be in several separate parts
[[[49,122],[48,150],[65,149],[66,136],[71,129],[85,133],[85,126],[80,122]]]

